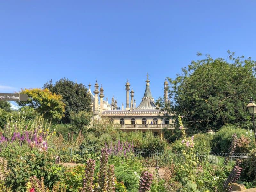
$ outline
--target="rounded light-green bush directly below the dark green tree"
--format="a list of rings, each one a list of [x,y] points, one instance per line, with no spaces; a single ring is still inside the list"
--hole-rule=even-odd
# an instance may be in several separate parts
[[[73,126],[73,131],[78,133],[82,130],[82,133],[85,131],[85,126],[90,124],[92,117],[91,112],[86,111],[78,111],[77,113],[71,111],[70,112],[70,123]]]

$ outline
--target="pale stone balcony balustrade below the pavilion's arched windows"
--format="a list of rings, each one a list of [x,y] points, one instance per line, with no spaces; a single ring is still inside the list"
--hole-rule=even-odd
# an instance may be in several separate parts
[[[120,129],[175,129],[174,124],[122,124],[117,127]]]

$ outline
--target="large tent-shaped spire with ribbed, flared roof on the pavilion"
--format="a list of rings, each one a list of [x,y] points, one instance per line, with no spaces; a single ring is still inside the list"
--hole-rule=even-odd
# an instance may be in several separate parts
[[[150,87],[149,87],[149,79],[148,79],[148,73],[147,73],[147,80],[146,80],[146,89],[144,92],[144,96],[142,98],[142,101],[140,105],[137,107],[137,109],[142,110],[150,110],[150,109],[156,109],[156,105],[154,102],[154,98],[151,94]]]

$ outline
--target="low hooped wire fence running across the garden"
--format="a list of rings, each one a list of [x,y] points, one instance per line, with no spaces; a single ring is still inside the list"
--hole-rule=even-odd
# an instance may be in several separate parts
[[[100,156],[101,149],[76,149],[76,148],[55,148],[48,147],[47,151],[55,156],[60,156],[62,162],[77,161],[85,163],[88,158],[97,158]],[[211,164],[223,163],[228,153],[203,153],[194,152],[199,162],[209,162]],[[185,157],[180,151],[164,151],[164,150],[149,150],[149,149],[133,149],[130,151],[109,151],[110,156],[136,157],[146,167],[167,166],[175,161],[182,161]],[[229,158],[230,165],[235,164],[236,159],[247,158],[247,153],[234,153]]]

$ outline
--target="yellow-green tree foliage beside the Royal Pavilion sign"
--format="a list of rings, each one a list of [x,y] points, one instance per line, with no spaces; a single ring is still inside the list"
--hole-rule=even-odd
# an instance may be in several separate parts
[[[27,101],[17,102],[20,106],[29,105],[47,119],[58,121],[62,118],[65,104],[60,95],[51,93],[49,89],[38,88],[22,89],[20,93],[28,95]]]

